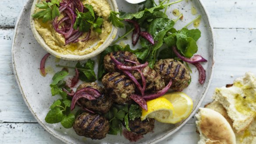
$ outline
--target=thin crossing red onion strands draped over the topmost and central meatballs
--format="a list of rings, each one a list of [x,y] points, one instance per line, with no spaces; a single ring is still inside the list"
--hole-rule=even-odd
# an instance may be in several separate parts
[[[110,58],[111,58],[111,60],[117,65],[117,68],[118,68],[118,67],[121,67],[121,66],[124,66],[123,63],[119,62],[118,60],[116,60],[116,59],[114,58],[113,53],[110,53]],[[146,66],[147,66],[147,64],[144,65],[144,67],[146,67]],[[135,68],[135,69],[131,69],[131,70],[137,70],[137,71],[139,71],[139,68],[138,68],[137,66],[134,66],[134,67],[136,67],[136,68]],[[140,68],[144,68],[144,67],[140,67]],[[127,66],[124,66],[124,69],[125,69],[125,68],[127,68]],[[129,68],[131,68],[131,67],[129,67]],[[120,69],[120,70],[122,70],[122,69]],[[122,72],[123,72],[127,77],[130,78],[130,80],[136,85],[136,87],[139,89],[139,92],[140,92],[141,95],[143,96],[143,95],[144,95],[144,91],[145,91],[145,90],[143,90],[143,88],[144,88],[144,87],[146,88],[146,81],[145,81],[144,75],[141,74],[142,80],[144,79],[144,81],[142,81],[142,85],[143,85],[143,88],[142,88],[141,85],[139,84],[139,82],[136,80],[136,78],[135,78],[128,70],[122,70]]]

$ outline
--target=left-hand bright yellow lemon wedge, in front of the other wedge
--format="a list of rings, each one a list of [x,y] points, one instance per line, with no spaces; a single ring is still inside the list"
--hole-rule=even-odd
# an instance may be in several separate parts
[[[161,123],[170,123],[174,115],[174,107],[170,101],[164,97],[159,97],[147,101],[148,111],[142,109],[141,120],[154,118]]]

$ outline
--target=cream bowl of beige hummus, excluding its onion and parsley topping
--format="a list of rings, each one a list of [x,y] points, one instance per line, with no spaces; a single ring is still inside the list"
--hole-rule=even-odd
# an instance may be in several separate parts
[[[60,0],[62,2],[63,0]],[[108,21],[111,11],[118,12],[115,0],[81,0],[82,5],[90,5],[96,18],[102,18],[102,25],[98,28],[90,28],[89,32],[83,32],[76,41],[68,42],[63,34],[56,31],[53,21],[42,21],[42,19],[30,19],[32,32],[39,44],[50,54],[65,60],[85,60],[101,53],[114,40],[117,28]],[[42,4],[41,0],[34,0],[31,15],[41,11],[36,4]],[[88,10],[85,10],[88,11]],[[75,11],[74,11],[75,12]],[[57,21],[65,16],[60,13]],[[64,25],[57,25],[59,29]],[[66,27],[65,27],[66,28]],[[72,27],[73,28],[73,27]],[[77,29],[76,31],[78,31]],[[74,29],[75,31],[75,29]],[[75,33],[75,32],[74,32]],[[76,35],[73,33],[73,36]],[[72,38],[72,36],[70,37]],[[70,39],[69,38],[69,39]],[[86,40],[82,40],[88,38]]]

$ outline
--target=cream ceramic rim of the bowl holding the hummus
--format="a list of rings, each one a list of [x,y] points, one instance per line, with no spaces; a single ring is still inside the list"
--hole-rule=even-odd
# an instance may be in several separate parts
[[[38,4],[40,1],[41,0],[34,0],[32,7],[31,7],[31,15],[34,14],[36,4]],[[115,0],[107,0],[107,1],[110,4],[112,11],[118,12],[117,2]],[[36,38],[36,41],[43,47],[43,49],[45,49],[48,53],[52,54],[53,56],[56,56],[56,57],[58,57],[60,59],[64,59],[64,60],[85,60],[85,59],[92,58],[93,56],[98,55],[104,49],[106,49],[111,44],[111,42],[114,40],[114,38],[117,34],[117,28],[112,26],[112,31],[110,32],[110,35],[103,42],[103,44],[100,45],[96,50],[92,51],[91,53],[82,55],[82,56],[72,55],[72,54],[64,55],[62,53],[58,53],[58,52],[54,51],[46,44],[46,42],[44,41],[42,36],[39,34],[39,32],[37,32],[36,27],[35,27],[35,21],[34,21],[34,18],[32,18],[32,17],[30,17],[30,25],[31,25],[32,32]]]

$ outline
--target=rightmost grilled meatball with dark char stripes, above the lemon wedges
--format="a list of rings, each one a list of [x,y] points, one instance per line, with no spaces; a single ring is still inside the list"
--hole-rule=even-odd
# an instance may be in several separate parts
[[[170,79],[173,79],[171,84],[173,90],[181,91],[188,87],[190,73],[185,65],[178,60],[159,60],[156,62],[154,70],[164,79],[165,84],[168,84]]]

